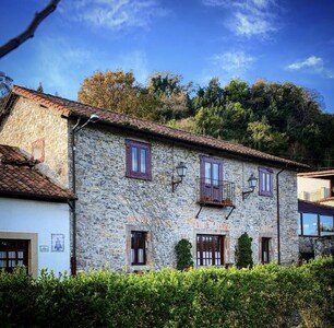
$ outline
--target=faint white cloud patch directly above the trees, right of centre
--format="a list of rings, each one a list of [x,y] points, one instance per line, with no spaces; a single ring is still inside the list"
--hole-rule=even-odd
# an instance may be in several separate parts
[[[215,55],[212,60],[218,69],[227,72],[230,77],[240,77],[251,67],[255,59],[243,51],[227,51]]]

